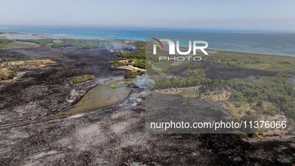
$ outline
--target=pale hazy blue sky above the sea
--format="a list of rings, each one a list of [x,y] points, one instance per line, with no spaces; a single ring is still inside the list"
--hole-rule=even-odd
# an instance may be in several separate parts
[[[295,30],[295,0],[0,0],[0,24]]]

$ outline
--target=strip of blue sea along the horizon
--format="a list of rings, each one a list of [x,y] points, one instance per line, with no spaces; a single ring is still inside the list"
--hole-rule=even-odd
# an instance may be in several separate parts
[[[171,33],[184,33],[188,39],[207,41],[208,48],[212,49],[295,56],[295,33],[281,33],[281,31],[82,25],[0,25],[0,27],[2,27],[0,31],[128,40],[146,40],[146,33],[162,33],[162,37],[165,37],[163,33],[170,33],[166,35],[167,37],[171,37]],[[190,33],[199,34],[194,34],[190,38]],[[180,45],[188,46],[186,42],[180,41]]]

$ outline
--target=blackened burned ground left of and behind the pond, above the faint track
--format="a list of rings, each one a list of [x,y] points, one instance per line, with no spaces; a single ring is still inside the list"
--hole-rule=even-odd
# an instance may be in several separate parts
[[[95,83],[92,80],[90,84],[73,84],[72,79],[76,76],[89,74],[97,79],[112,79],[128,73],[128,70],[112,67],[108,61],[120,58],[107,49],[34,47],[1,50],[0,54],[14,54],[11,57],[16,59],[52,59],[57,54],[68,57],[54,59],[56,64],[45,67],[16,69],[19,76],[13,83],[0,86],[0,125],[52,115],[68,107],[66,98],[71,90],[79,85],[88,90]]]

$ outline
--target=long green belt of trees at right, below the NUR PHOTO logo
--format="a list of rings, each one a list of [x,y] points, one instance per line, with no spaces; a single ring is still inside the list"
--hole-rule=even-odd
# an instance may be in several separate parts
[[[201,76],[191,76],[181,80],[172,77],[170,80],[155,80],[154,88],[200,86],[198,88],[200,93],[226,89],[233,91],[230,96],[231,101],[246,101],[248,103],[260,100],[269,101],[273,102],[281,111],[287,112],[289,108],[295,107],[293,97],[295,89],[294,84],[289,81],[290,78],[284,77],[284,75],[286,74],[279,76],[251,76],[246,79],[234,78],[230,80],[211,80]]]

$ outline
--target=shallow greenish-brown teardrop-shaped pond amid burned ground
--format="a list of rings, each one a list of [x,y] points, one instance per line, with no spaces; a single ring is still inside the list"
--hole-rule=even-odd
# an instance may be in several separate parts
[[[120,84],[121,86],[115,88],[110,87],[114,83]],[[129,94],[130,89],[127,89],[126,86],[127,84],[124,83],[124,80],[99,84],[89,90],[77,104],[61,111],[61,113],[76,113],[115,104]]]

